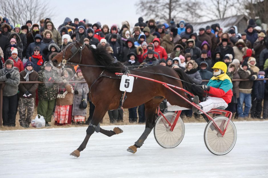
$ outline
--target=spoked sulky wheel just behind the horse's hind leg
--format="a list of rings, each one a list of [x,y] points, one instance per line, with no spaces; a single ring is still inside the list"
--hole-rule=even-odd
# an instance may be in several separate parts
[[[163,115],[172,125],[177,114],[174,112],[165,112]],[[184,137],[184,123],[179,117],[173,131],[170,131],[170,126],[168,126],[165,118],[160,115],[156,120],[154,127],[155,140],[163,148],[174,148],[180,144]]]

